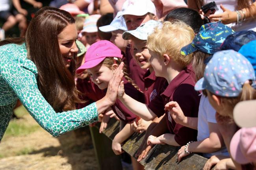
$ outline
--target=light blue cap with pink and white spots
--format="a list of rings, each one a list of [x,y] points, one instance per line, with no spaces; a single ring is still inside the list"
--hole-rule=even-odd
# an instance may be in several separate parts
[[[195,90],[207,89],[215,95],[237,97],[247,80],[252,80],[255,87],[255,73],[249,60],[232,49],[219,51],[206,65],[204,77],[195,84]]]

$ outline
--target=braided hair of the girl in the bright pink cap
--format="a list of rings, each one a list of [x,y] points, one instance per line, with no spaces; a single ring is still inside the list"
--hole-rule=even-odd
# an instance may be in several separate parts
[[[122,62],[121,58],[117,58],[117,60],[115,60],[113,57],[106,57],[101,63],[108,67],[109,69],[112,69],[113,64],[118,64],[120,65]],[[139,86],[137,86],[137,84],[135,84],[135,82],[129,77],[129,74],[127,73],[127,67],[126,64],[124,64],[124,68],[123,68],[123,73],[124,73],[124,78],[130,82],[137,90],[141,91],[139,89]]]

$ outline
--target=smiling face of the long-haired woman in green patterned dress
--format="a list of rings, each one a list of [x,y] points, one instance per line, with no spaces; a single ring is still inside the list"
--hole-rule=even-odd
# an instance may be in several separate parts
[[[75,24],[68,24],[58,35],[59,49],[66,68],[69,68],[74,54],[78,52],[76,38],[77,31]]]

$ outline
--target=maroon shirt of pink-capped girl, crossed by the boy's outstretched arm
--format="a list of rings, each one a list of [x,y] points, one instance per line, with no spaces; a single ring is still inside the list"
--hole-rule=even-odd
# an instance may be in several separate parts
[[[135,99],[136,101],[144,103],[144,94],[138,91],[130,82],[128,82],[126,79],[122,78],[124,81],[124,91],[125,93]],[[122,104],[122,102],[117,99],[115,104],[112,106],[113,111],[116,113],[117,117],[119,117],[120,120],[128,123],[133,122],[136,119],[136,115],[132,113],[128,108]]]

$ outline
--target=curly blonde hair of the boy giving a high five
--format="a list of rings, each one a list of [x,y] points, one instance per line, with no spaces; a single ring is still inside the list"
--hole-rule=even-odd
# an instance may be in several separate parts
[[[175,62],[186,67],[192,60],[192,54],[183,56],[180,49],[191,43],[195,33],[193,29],[184,22],[166,21],[162,28],[156,28],[154,32],[148,36],[147,45],[150,51],[163,56],[169,55]]]

